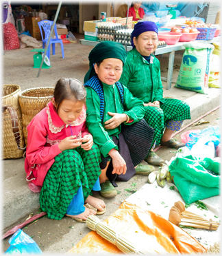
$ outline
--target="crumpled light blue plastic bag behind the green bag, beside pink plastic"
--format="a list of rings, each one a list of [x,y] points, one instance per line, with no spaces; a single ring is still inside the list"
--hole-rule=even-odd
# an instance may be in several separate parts
[[[211,126],[201,131],[191,132],[189,134],[190,140],[186,143],[186,147],[191,149],[200,138],[205,138],[206,143],[213,142],[216,148],[221,143],[221,130],[218,126]]]

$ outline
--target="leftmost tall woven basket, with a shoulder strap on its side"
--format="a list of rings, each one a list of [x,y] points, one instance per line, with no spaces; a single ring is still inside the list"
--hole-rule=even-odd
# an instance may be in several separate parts
[[[18,94],[21,87],[18,85],[3,85],[2,89],[2,157],[22,158],[25,147],[21,109],[18,104]]]

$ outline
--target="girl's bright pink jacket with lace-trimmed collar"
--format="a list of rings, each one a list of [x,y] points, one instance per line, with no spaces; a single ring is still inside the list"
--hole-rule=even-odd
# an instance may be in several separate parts
[[[60,151],[58,143],[66,137],[73,135],[83,138],[89,134],[86,128],[86,108],[84,107],[79,118],[71,127],[66,125],[56,113],[51,102],[42,109],[27,126],[27,150],[25,158],[25,172],[27,182],[32,181],[42,186],[47,171],[55,161]]]

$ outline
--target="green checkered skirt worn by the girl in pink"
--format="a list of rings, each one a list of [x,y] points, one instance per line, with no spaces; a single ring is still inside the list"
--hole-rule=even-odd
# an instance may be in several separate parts
[[[40,207],[49,219],[64,217],[80,186],[84,200],[88,198],[101,173],[99,162],[101,157],[96,145],[89,151],[77,147],[56,156],[40,191]]]

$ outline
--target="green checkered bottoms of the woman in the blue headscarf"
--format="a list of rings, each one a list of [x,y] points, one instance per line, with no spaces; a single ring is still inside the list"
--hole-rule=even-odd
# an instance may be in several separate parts
[[[164,98],[160,107],[145,107],[145,120],[147,124],[155,129],[152,145],[160,144],[164,128],[169,120],[186,120],[190,118],[190,106],[182,100]]]

